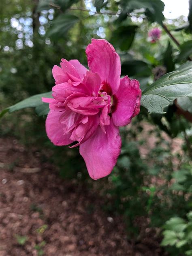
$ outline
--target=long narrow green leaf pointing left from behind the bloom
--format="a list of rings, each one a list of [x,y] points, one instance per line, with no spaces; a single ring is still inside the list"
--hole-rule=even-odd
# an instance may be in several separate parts
[[[25,100],[22,100],[22,101],[16,103],[15,105],[13,105],[11,107],[8,107],[8,108],[4,109],[2,112],[0,112],[0,117],[2,117],[8,111],[9,111],[9,113],[12,113],[12,112],[15,112],[17,110],[25,109],[25,108],[28,108],[28,107],[35,107],[37,113],[40,113],[40,115],[43,115],[43,114],[47,113],[45,111],[45,109],[47,109],[48,104],[43,103],[41,98],[42,97],[52,98],[51,94],[52,94],[52,92],[45,92],[45,93],[36,94],[34,96],[26,98]],[[41,106],[41,108],[39,106]]]

